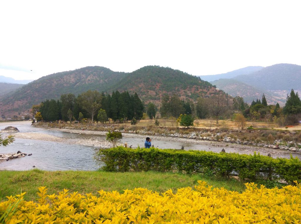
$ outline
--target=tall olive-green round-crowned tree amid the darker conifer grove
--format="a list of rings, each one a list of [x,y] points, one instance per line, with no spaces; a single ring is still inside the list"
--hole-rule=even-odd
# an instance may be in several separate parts
[[[79,105],[91,116],[93,122],[96,112],[101,107],[101,94],[96,90],[88,90],[87,92],[80,94],[77,100]]]

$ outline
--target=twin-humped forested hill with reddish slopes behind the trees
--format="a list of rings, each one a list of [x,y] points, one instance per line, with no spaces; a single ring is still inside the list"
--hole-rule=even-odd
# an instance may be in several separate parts
[[[46,99],[58,99],[61,94],[75,95],[88,90],[137,92],[147,101],[159,101],[167,93],[183,99],[219,94],[207,81],[185,72],[160,66],[145,66],[134,72],[113,72],[100,66],[89,66],[74,71],[59,72],[39,78],[0,101],[0,114],[27,111]]]

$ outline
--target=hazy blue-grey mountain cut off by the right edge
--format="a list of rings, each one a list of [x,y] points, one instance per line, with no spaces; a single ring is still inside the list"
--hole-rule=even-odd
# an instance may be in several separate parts
[[[248,75],[239,75],[234,79],[263,90],[299,90],[301,89],[301,66],[276,64]]]

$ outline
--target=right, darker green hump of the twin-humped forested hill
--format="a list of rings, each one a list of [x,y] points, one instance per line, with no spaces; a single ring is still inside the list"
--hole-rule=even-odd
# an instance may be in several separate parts
[[[160,100],[164,94],[179,94],[182,98],[197,99],[199,96],[216,94],[216,88],[207,81],[186,72],[160,66],[145,66],[125,75],[107,89],[137,92],[142,100]]]

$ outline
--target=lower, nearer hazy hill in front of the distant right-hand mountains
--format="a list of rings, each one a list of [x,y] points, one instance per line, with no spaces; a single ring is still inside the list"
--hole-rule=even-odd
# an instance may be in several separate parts
[[[276,104],[284,106],[286,97],[283,97],[280,94],[273,93],[271,91],[262,90],[241,81],[237,81],[234,78],[229,79],[219,79],[211,82],[213,85],[216,85],[217,88],[225,91],[230,94],[232,97],[240,96],[244,98],[246,103],[252,103],[256,99],[261,100],[262,94],[265,94],[265,98],[268,104]]]

